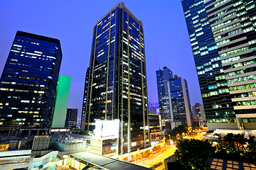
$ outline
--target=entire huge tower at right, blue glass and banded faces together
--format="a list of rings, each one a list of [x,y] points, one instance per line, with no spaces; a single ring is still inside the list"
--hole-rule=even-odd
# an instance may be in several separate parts
[[[208,128],[255,129],[255,1],[182,5]]]

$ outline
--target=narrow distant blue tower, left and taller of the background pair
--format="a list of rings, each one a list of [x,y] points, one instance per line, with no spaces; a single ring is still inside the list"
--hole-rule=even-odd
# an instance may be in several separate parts
[[[159,113],[161,114],[161,118],[163,120],[171,120],[169,94],[167,88],[167,83],[171,78],[173,78],[173,74],[167,67],[164,67],[163,70],[159,69],[156,71]]]

